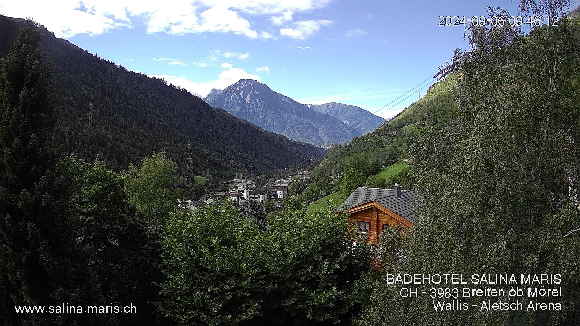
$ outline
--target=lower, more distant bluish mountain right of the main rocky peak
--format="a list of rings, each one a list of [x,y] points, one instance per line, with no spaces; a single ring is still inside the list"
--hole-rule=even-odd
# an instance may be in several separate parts
[[[374,131],[385,122],[385,119],[377,117],[364,108],[352,106],[342,103],[326,103],[326,104],[305,104],[306,107],[314,111],[328,114],[333,118],[339,119],[345,124],[357,129],[361,135]]]

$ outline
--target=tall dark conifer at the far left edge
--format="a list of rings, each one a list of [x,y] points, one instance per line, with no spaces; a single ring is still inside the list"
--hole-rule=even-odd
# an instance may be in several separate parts
[[[0,324],[91,325],[103,316],[14,311],[104,303],[63,205],[70,180],[56,175],[56,155],[45,143],[54,114],[42,37],[27,21],[0,63]]]

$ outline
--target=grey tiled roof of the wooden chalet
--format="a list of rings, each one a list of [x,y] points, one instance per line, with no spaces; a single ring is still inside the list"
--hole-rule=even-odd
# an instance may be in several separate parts
[[[393,189],[380,189],[358,187],[357,190],[346,198],[345,202],[337,208],[337,211],[343,207],[353,208],[355,206],[366,204],[367,202],[376,201],[380,205],[390,209],[411,223],[415,223],[417,217],[415,216],[415,198],[417,191],[401,190],[401,197],[395,197]]]

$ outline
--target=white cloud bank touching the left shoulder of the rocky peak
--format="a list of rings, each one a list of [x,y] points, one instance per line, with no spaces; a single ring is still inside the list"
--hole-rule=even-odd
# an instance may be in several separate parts
[[[234,84],[234,82],[240,81],[240,79],[255,79],[260,81],[260,76],[255,74],[250,74],[242,68],[226,68],[223,70],[218,78],[213,81],[202,81],[193,82],[185,77],[176,77],[172,75],[148,75],[148,77],[162,78],[165,79],[168,84],[181,86],[189,92],[194,93],[200,97],[205,97],[211,92],[212,89],[224,89],[227,86]]]

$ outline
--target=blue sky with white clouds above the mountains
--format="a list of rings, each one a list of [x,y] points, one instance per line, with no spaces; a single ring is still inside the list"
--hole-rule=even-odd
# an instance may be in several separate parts
[[[572,1],[574,2],[574,1]],[[439,16],[518,14],[519,0],[0,0],[57,37],[205,96],[256,79],[303,104],[339,102],[383,118],[425,95],[466,27]]]

